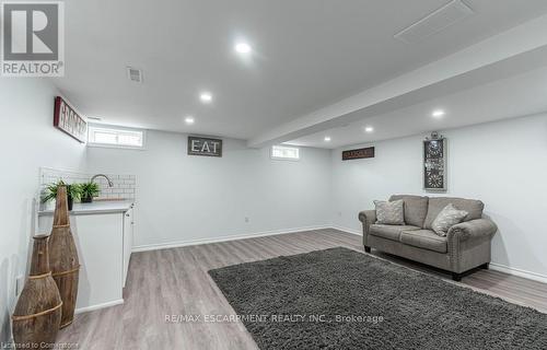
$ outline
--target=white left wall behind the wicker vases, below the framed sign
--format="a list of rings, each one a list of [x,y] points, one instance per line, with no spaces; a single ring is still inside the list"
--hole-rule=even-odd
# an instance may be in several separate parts
[[[15,278],[34,233],[39,166],[85,166],[85,147],[53,127],[55,88],[42,79],[0,79],[0,341],[9,339]]]

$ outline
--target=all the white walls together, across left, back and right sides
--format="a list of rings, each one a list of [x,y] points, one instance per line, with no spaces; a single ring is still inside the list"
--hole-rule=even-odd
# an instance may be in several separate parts
[[[137,175],[137,246],[330,225],[359,232],[357,213],[392,194],[423,194],[421,140],[377,142],[372,160],[301,150],[300,162],[224,140],[222,158],[186,155],[186,136],[149,131],[146,151],[85,149],[51,126],[56,90],[0,80],[0,341],[15,277],[25,272],[38,167]],[[443,132],[449,196],[479,198],[500,226],[493,261],[547,276],[547,115]],[[245,222],[249,218],[249,222]],[[7,281],[7,283],[4,283]]]

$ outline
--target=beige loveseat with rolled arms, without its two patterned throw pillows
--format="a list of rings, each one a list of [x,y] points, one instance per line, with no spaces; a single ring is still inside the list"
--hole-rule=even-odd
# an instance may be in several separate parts
[[[359,213],[363,223],[363,244],[366,253],[375,248],[452,272],[459,281],[462,273],[476,267],[488,268],[490,241],[498,231],[496,224],[482,218],[480,200],[398,195],[403,199],[405,225],[376,224],[375,210]],[[431,224],[449,203],[468,212],[464,222],[452,226],[445,237],[437,235]]]

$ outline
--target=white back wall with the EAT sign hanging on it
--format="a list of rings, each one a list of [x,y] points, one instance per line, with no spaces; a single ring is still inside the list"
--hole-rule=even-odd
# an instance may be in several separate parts
[[[89,172],[137,175],[136,246],[329,223],[330,151],[290,162],[238,140],[224,139],[222,158],[189,156],[186,143],[149,131],[144,151],[89,148]]]

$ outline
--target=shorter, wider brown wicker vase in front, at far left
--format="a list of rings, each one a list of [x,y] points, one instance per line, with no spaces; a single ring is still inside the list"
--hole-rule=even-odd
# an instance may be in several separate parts
[[[62,302],[49,269],[47,237],[34,237],[31,273],[12,316],[18,349],[53,349],[59,331]]]

